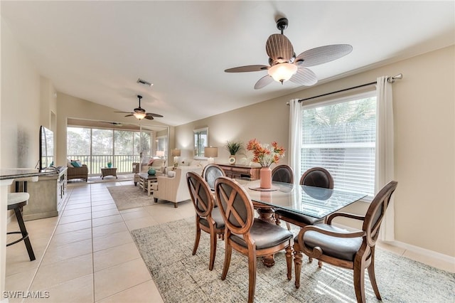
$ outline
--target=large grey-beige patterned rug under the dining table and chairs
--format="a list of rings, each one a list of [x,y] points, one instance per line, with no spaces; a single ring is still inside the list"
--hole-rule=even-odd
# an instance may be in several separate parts
[[[294,230],[294,232],[296,232]],[[132,230],[134,241],[164,298],[164,302],[247,302],[247,257],[232,250],[226,280],[220,279],[224,242],[218,240],[213,271],[208,270],[209,236],[201,234],[198,252],[191,255],[194,219]],[[455,275],[376,250],[376,279],[382,302],[455,302]],[[379,302],[365,271],[367,302]],[[304,263],[301,286],[286,277],[284,253],[275,255],[271,268],[257,262],[255,302],[356,302],[351,270],[317,262]]]

